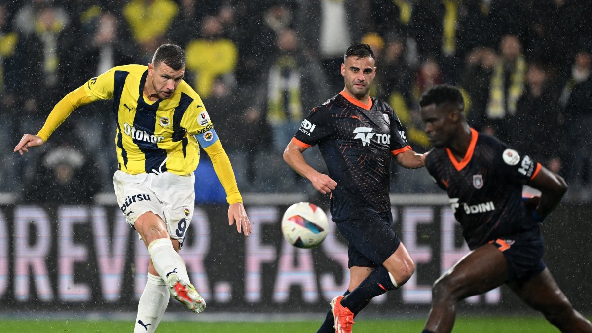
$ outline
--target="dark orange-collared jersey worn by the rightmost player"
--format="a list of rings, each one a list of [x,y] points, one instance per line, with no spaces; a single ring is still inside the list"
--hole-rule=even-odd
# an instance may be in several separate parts
[[[461,161],[448,148],[434,148],[426,168],[448,192],[469,248],[510,235],[538,234],[539,225],[522,201],[523,185],[540,170],[528,155],[471,129],[471,143]]]

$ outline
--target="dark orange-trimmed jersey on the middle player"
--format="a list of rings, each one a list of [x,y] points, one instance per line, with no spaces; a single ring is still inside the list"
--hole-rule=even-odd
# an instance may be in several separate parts
[[[390,210],[392,155],[411,149],[390,105],[374,97],[363,104],[342,91],[310,111],[292,142],[318,145],[337,182],[331,196],[335,222],[363,217],[365,209]]]

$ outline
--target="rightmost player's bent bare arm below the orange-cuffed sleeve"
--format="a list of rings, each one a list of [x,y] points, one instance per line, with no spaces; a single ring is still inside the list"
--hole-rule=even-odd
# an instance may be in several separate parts
[[[535,209],[541,221],[555,209],[567,191],[567,183],[563,177],[542,166],[528,185],[541,192],[539,203]]]

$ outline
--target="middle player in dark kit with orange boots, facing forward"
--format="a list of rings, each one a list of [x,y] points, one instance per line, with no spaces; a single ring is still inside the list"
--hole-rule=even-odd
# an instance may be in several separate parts
[[[318,332],[351,332],[353,317],[372,297],[402,286],[415,271],[392,229],[389,167],[395,156],[405,168],[420,168],[424,156],[411,150],[390,105],[369,96],[376,67],[368,45],[346,50],[341,73],[345,89],[310,111],[284,151],[290,167],[331,193],[333,221],[349,241],[348,290],[332,300]],[[305,161],[303,152],[314,145],[329,175]]]

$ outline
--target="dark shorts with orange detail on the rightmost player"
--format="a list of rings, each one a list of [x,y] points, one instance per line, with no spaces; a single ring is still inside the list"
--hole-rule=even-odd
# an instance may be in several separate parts
[[[528,281],[545,270],[542,257],[545,252],[545,240],[540,231],[532,236],[509,236],[490,241],[506,257],[508,264],[508,282]]]

